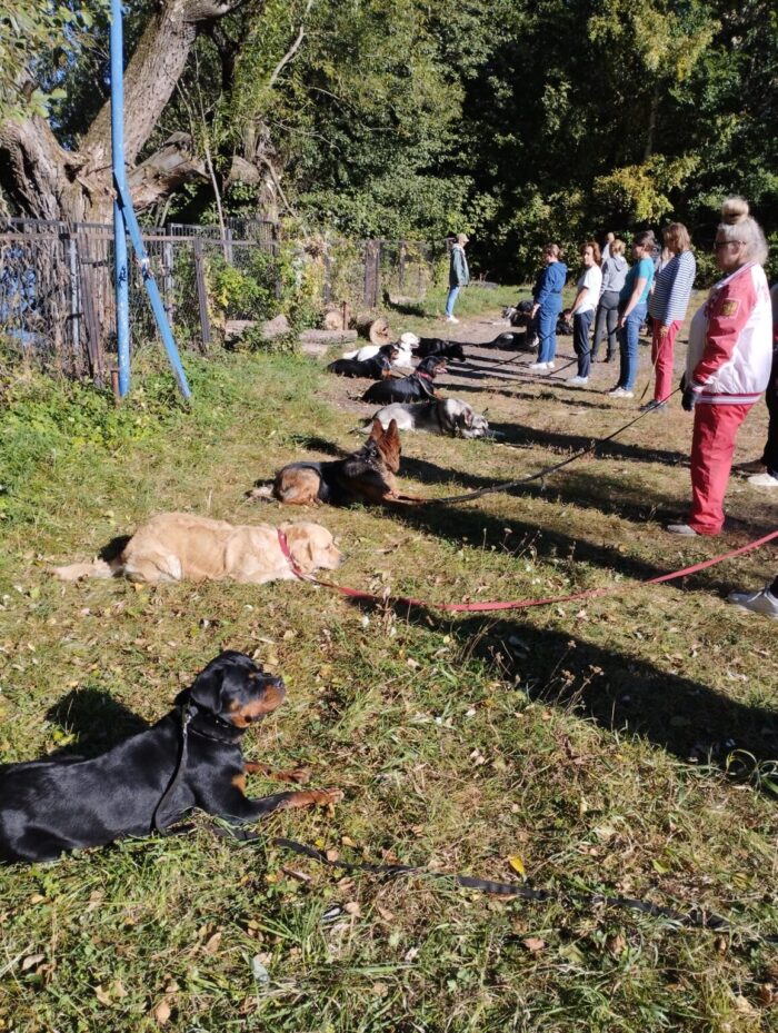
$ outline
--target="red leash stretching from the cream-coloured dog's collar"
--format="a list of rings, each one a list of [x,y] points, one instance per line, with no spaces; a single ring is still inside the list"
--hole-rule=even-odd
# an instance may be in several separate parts
[[[596,599],[599,596],[612,595],[616,592],[634,592],[641,585],[659,585],[662,582],[671,582],[679,577],[686,577],[688,574],[697,574],[699,570],[705,570],[707,567],[714,567],[716,564],[724,563],[725,559],[732,559],[735,556],[741,556],[744,553],[749,553],[751,549],[757,549],[762,545],[767,545],[767,543],[772,542],[774,538],[778,538],[778,529],[771,530],[769,535],[757,538],[756,542],[750,542],[739,549],[732,549],[731,553],[714,556],[712,559],[704,559],[702,563],[696,563],[690,567],[684,567],[682,570],[674,570],[671,574],[660,574],[658,577],[649,577],[648,580],[638,582],[634,585],[611,585],[609,588],[589,588],[587,592],[576,592],[572,595],[552,596],[546,599],[510,599],[506,603],[426,603],[423,599],[413,599],[410,596],[372,595],[369,592],[361,592],[358,588],[347,588],[343,585],[336,585],[332,582],[319,580],[319,578],[313,577],[312,574],[303,574],[289,552],[286,535],[282,530],[278,530],[278,542],[281,546],[281,552],[287,557],[295,575],[302,582],[321,585],[323,588],[335,588],[336,592],[348,596],[350,599],[361,599],[366,603],[391,602],[399,603],[402,606],[423,606],[428,609],[445,609],[448,613],[487,613],[496,609],[526,609],[530,606],[549,606],[551,603],[573,603],[578,599]]]

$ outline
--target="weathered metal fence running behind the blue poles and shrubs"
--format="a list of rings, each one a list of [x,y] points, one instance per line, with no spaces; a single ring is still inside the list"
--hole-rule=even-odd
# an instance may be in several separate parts
[[[207,350],[223,336],[228,320],[247,318],[230,310],[236,302],[219,285],[229,282],[226,268],[250,284],[258,251],[278,265],[275,296],[281,307],[278,224],[230,219],[223,235],[218,226],[171,224],[142,236],[180,347]],[[307,281],[310,292],[312,282],[315,305],[322,309],[342,301],[357,310],[375,309],[389,297],[410,302],[423,297],[446,247],[446,241],[326,236],[285,241],[283,290],[293,295]],[[267,271],[267,259],[265,264]],[[157,336],[142,270],[134,261],[130,326],[136,341]],[[0,336],[66,376],[108,383],[116,352],[112,227],[16,218],[0,222]]]

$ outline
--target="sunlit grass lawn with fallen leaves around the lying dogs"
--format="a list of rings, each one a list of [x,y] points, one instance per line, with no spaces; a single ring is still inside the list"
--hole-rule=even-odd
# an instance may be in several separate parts
[[[463,292],[450,336],[490,340],[516,294]],[[438,334],[436,311],[392,319]],[[604,394],[612,366],[594,367],[591,390],[565,386],[569,338],[551,377],[527,373],[525,357],[496,366],[509,357],[472,349],[445,380],[502,437],[406,435],[402,488],[512,480],[635,415],[637,397]],[[691,420],[676,398],[545,485],[313,516],[347,554],[335,578],[371,592],[624,594],[451,617],[361,608],[300,583],[60,584],[49,565],[89,558],[154,511],[311,518],[243,493],[286,461],[352,449],[371,411],[355,400],[363,385],[312,359],[218,355],[188,359],[186,413],[157,362],[141,357],[119,410],[90,389],[4,374],[0,761],[100,752],[167,713],[220,649],[242,649],[288,687],[248,737],[249,758],[308,765],[312,785],[346,793],[333,813],[269,820],[269,835],[346,860],[702,906],[744,933],[343,877],[217,838],[196,817],[182,835],[2,871],[0,1031],[775,1030],[778,954],[750,937],[778,931],[776,625],[722,596],[774,576],[776,549],[638,586],[772,529],[769,491],[734,477],[721,538],[667,535],[689,496]],[[765,428],[759,404],[738,460],[759,455]],[[251,795],[275,791],[249,781]]]

